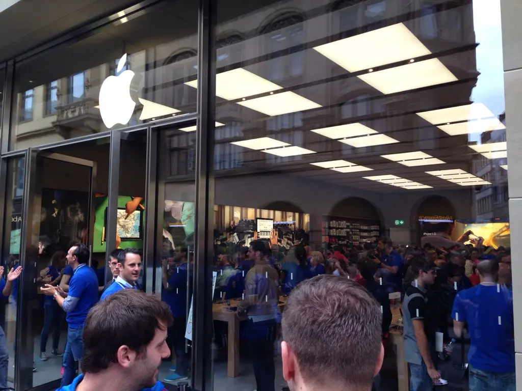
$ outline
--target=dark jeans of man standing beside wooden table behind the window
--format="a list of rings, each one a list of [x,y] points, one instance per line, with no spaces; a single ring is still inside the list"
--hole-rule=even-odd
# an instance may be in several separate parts
[[[275,391],[276,365],[274,363],[274,343],[276,341],[276,322],[246,323],[248,339],[257,391]],[[229,341],[229,344],[232,341]]]

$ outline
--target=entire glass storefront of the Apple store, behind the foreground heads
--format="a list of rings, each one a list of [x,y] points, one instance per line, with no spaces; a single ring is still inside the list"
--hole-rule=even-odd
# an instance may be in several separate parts
[[[381,306],[374,389],[407,390],[416,257],[439,268],[426,294],[435,315],[422,320],[429,366],[452,389],[495,373],[514,389],[511,229],[522,213],[509,207],[507,139],[510,158],[519,139],[506,123],[499,0],[147,4],[16,61],[0,95],[0,107],[11,96],[2,265],[27,273],[3,306],[10,381],[60,378],[51,342],[42,359],[39,276],[80,241],[100,291],[112,250],[143,252],[140,284],[175,318],[167,389],[288,387],[287,297],[335,274]],[[209,70],[215,83],[199,83]],[[498,279],[484,279],[479,264],[493,260]],[[503,301],[473,301],[488,284]],[[495,305],[479,319],[470,309],[484,301]]]

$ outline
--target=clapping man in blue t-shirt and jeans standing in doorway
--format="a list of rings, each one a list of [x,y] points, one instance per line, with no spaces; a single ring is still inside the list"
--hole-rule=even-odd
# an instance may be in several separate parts
[[[75,362],[78,361],[81,365],[83,349],[81,336],[85,319],[91,307],[98,301],[98,277],[94,270],[87,266],[89,256],[89,249],[81,243],[69,249],[67,263],[73,268],[74,273],[68,282],[68,295],[52,285],[45,285],[45,288],[42,288],[42,292],[52,296],[58,306],[67,313],[67,345],[63,358],[62,387],[73,382],[76,374]]]

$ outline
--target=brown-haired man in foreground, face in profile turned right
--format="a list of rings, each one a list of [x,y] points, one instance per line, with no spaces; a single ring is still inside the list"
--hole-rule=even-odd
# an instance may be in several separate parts
[[[158,367],[170,356],[166,340],[171,324],[169,306],[156,296],[136,289],[115,292],[87,315],[84,373],[57,391],[163,390]]]

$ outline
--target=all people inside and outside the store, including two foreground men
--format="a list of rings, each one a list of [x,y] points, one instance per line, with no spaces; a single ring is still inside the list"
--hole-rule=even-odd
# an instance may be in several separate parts
[[[440,384],[438,365],[448,359],[455,340],[464,337],[469,337],[470,344],[470,390],[514,390],[509,249],[488,248],[480,242],[465,245],[466,234],[456,242],[446,237],[433,239],[439,247],[426,240],[422,247],[395,246],[386,237],[363,246],[315,251],[310,246],[284,251],[264,240],[253,240],[249,247],[234,252],[218,247],[215,299],[238,299],[234,310],[244,321],[242,335],[251,353],[257,391],[275,391],[275,341],[281,330],[283,375],[290,389],[307,389],[311,384],[331,384],[328,389],[332,390],[369,389],[366,385],[378,389],[382,340],[392,323],[390,294],[394,292],[402,300],[412,391]],[[39,278],[46,295],[40,358],[46,360],[52,328],[51,352],[61,355],[57,349],[65,314],[64,391],[139,376],[143,378],[128,389],[161,389],[156,384],[157,369],[170,349],[176,362],[172,374],[163,380],[188,378],[190,360],[184,335],[187,282],[193,265],[187,262],[187,254],[180,247],[163,257],[161,301],[140,291],[140,250],[114,250],[109,263],[112,278],[106,284],[100,284],[96,270],[88,266],[86,246],[77,244],[67,254],[53,255]],[[1,280],[4,297],[16,288],[21,271],[16,265]],[[287,300],[281,301],[282,297]],[[150,308],[143,307],[145,303]],[[342,308],[347,312],[342,313]],[[139,329],[149,326],[147,332]],[[107,335],[123,332],[100,344],[94,336],[102,335],[104,328]],[[345,332],[339,334],[339,329]],[[442,340],[442,349],[437,340]],[[349,355],[349,351],[357,354]],[[140,363],[138,369],[138,362],[144,359],[150,360],[145,366]],[[355,375],[346,373],[344,364],[339,368],[332,365],[346,360],[361,371]],[[6,338],[0,329],[0,389],[4,384],[7,389],[7,365]],[[75,378],[78,368],[84,375]],[[127,371],[132,376],[127,378],[131,373]]]

